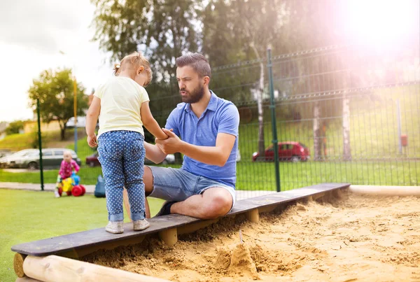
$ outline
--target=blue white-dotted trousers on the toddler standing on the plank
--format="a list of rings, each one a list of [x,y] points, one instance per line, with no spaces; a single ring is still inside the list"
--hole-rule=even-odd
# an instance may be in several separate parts
[[[127,189],[132,220],[146,216],[144,195],[144,136],[139,132],[105,132],[98,139],[99,162],[105,178],[108,220],[124,219],[123,187]]]

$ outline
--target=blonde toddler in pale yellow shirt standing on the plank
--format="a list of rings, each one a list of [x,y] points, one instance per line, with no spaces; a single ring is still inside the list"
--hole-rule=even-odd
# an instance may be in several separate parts
[[[144,127],[158,139],[167,139],[148,106],[144,89],[152,80],[151,66],[140,52],[127,55],[115,66],[115,77],[94,92],[86,116],[87,143],[98,146],[105,178],[109,223],[105,230],[124,232],[123,187],[127,189],[133,229],[150,226],[144,195]],[[94,134],[99,116],[98,136]]]

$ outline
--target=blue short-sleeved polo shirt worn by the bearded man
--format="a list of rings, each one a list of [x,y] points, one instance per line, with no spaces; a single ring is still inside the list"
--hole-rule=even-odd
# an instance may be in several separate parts
[[[218,133],[234,135],[235,145],[223,167],[204,164],[184,155],[181,169],[235,188],[239,112],[231,101],[217,97],[211,90],[210,92],[209,104],[200,118],[191,110],[190,104],[180,103],[169,115],[165,128],[174,129],[174,133],[183,141],[197,146],[216,146]]]

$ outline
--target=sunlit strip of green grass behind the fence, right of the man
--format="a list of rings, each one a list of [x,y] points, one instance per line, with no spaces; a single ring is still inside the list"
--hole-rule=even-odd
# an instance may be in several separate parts
[[[319,183],[420,185],[420,162],[280,162],[281,190]],[[238,190],[276,190],[274,163],[242,162]]]

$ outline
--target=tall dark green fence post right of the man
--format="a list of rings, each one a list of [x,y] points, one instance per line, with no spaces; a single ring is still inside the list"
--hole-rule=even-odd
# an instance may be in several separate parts
[[[268,66],[268,80],[269,80],[269,108],[272,116],[272,134],[273,134],[273,148],[274,148],[274,167],[276,169],[276,190],[281,191],[280,187],[280,167],[279,167],[279,141],[277,140],[277,125],[276,125],[276,105],[274,104],[274,85],[273,85],[273,71],[271,62],[271,48],[267,48],[267,66]]]

